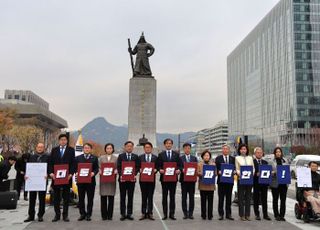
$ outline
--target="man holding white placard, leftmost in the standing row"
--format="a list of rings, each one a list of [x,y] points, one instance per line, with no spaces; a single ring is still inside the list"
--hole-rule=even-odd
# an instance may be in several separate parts
[[[36,146],[36,151],[34,154],[30,155],[28,163],[45,163],[48,164],[49,156],[45,153],[45,146],[43,143],[38,143]],[[28,173],[28,172],[26,172]],[[25,180],[28,180],[28,176],[25,176]],[[47,179],[47,177],[46,177]],[[39,210],[38,210],[38,221],[43,221],[43,215],[45,213],[45,203],[46,203],[46,193],[47,191],[30,191],[29,193],[29,210],[28,218],[24,222],[34,221],[36,199],[39,199]]]

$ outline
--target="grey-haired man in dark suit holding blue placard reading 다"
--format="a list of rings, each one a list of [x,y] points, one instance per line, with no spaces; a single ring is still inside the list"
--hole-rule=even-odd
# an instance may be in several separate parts
[[[253,176],[253,208],[254,214],[256,216],[256,220],[261,220],[260,212],[259,212],[259,204],[261,201],[263,218],[265,220],[271,220],[268,216],[268,185],[267,184],[259,184],[259,166],[260,165],[267,165],[268,162],[263,160],[263,150],[260,147],[256,147],[254,149],[255,159],[253,160],[255,173]]]

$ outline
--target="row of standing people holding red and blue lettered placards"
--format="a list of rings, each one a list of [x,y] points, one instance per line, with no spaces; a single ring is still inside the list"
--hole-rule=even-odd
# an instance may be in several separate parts
[[[179,153],[172,150],[173,141],[171,139],[166,139],[164,141],[165,150],[159,153],[158,156],[152,154],[152,144],[147,143],[144,145],[144,154],[138,156],[133,153],[134,144],[131,141],[127,141],[124,144],[124,153],[120,154],[118,158],[113,155],[114,146],[113,144],[107,144],[105,146],[105,155],[102,155],[99,159],[92,154],[92,146],[90,144],[84,145],[84,154],[75,157],[74,149],[67,146],[67,136],[60,135],[59,136],[59,146],[53,148],[51,151],[51,155],[47,159],[48,161],[48,175],[55,180],[54,175],[54,165],[56,164],[68,164],[69,165],[69,180],[71,183],[71,178],[73,174],[77,175],[77,167],[78,163],[90,162],[92,163],[92,182],[89,184],[80,184],[78,183],[78,192],[79,192],[79,212],[80,217],[79,221],[82,220],[91,220],[92,216],[92,207],[93,207],[93,199],[94,199],[94,191],[95,191],[95,175],[101,174],[101,170],[99,169],[101,163],[113,162],[117,170],[115,170],[115,174],[118,174],[118,183],[120,189],[120,220],[133,220],[133,198],[134,198],[134,190],[136,180],[132,181],[124,181],[122,179],[122,162],[124,161],[132,161],[135,163],[135,175],[140,172],[140,164],[141,162],[154,162],[155,172],[160,173],[160,182],[162,186],[162,208],[163,208],[163,220],[170,218],[172,220],[176,220],[175,217],[175,209],[176,209],[176,186],[177,181],[175,182],[166,182],[163,180],[164,174],[164,162],[175,162],[176,169],[175,174],[180,175],[179,181],[181,182],[181,198],[182,198],[182,210],[184,214],[184,219],[193,219],[193,211],[194,211],[194,194],[195,194],[195,185],[196,182],[185,182],[183,179],[184,162],[198,162],[197,158],[190,155],[191,145],[186,143],[183,146],[185,154],[181,157]],[[40,144],[41,145],[41,144]],[[39,145],[37,146],[37,148]],[[38,150],[36,151],[36,155],[38,154]],[[250,159],[247,157],[248,147],[246,145],[240,145],[238,149],[239,156],[233,157],[230,155],[230,148],[228,145],[224,145],[222,147],[222,155],[219,155],[215,161],[211,159],[211,153],[209,151],[204,151],[201,155],[202,161],[198,164],[198,176],[202,177],[202,168],[203,165],[215,165],[216,166],[216,174],[218,176],[217,185],[218,185],[218,213],[219,220],[223,220],[224,218],[228,220],[234,220],[231,213],[231,198],[232,198],[232,190],[233,184],[223,183],[220,181],[221,178],[221,165],[222,164],[233,164],[235,165],[235,173],[238,174],[239,166],[241,165],[252,165],[255,168],[255,177],[254,177],[254,212],[256,215],[256,219],[260,220],[259,213],[259,203],[261,200],[262,210],[263,210],[263,218],[266,220],[271,220],[267,213],[267,191],[268,186],[259,185],[257,183],[258,173],[259,173],[259,165],[267,164],[268,162],[262,160],[262,149],[255,149],[255,159]],[[276,148],[275,152],[275,160],[274,160],[274,173],[277,164],[285,164],[286,161],[283,158],[282,150],[280,148]],[[37,158],[39,159],[39,158]],[[280,159],[280,160],[278,160]],[[46,159],[43,158],[43,161]],[[42,162],[42,161],[41,161]],[[275,177],[275,176],[274,176]],[[276,178],[276,177],[275,177]],[[271,184],[272,195],[273,195],[273,209],[274,215],[277,220],[284,220],[285,215],[285,198],[286,198],[286,188],[282,188],[282,186],[275,184],[273,181]],[[141,217],[140,220],[150,219],[154,220],[153,216],[153,195],[156,181],[154,182],[141,182],[139,181],[141,196],[142,196],[142,204],[141,204]],[[286,185],[285,185],[286,186]],[[238,193],[239,193],[239,216],[241,220],[250,220],[250,205],[248,202],[251,200],[251,189],[246,187],[239,187],[238,183]],[[69,221],[68,218],[68,202],[69,202],[69,192],[70,185],[53,185],[54,190],[54,209],[55,209],[55,217],[53,218],[53,222],[60,220],[61,211],[60,211],[60,201],[61,194],[63,198],[63,211],[62,218],[64,221]],[[199,190],[201,196],[201,217],[203,219],[208,218],[212,219],[212,210],[213,210],[213,196],[215,185],[207,185],[203,184],[201,180],[199,180]],[[113,206],[114,206],[114,196],[116,191],[116,182],[109,183],[100,183],[100,196],[101,196],[101,216],[103,220],[111,220],[113,216]],[[250,192],[249,192],[250,191]],[[62,192],[62,193],[61,193]],[[85,207],[85,196],[88,198],[87,208]],[[30,195],[31,197],[31,195]],[[33,196],[34,197],[34,196]],[[39,196],[40,197],[40,196]],[[280,197],[281,207],[280,212],[278,211],[278,199]],[[169,198],[169,200],[168,200]],[[30,199],[29,207],[29,217],[26,221],[34,220],[34,198]],[[189,202],[188,202],[189,201]],[[39,211],[38,220],[43,220],[44,211]]]

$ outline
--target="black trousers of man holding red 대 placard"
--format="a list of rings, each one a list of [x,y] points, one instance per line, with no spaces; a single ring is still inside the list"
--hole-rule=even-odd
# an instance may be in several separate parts
[[[56,216],[59,216],[59,217],[61,215],[61,210],[60,210],[61,195],[63,198],[62,216],[67,217],[68,210],[69,210],[70,185],[54,185],[53,186],[54,212],[56,213]]]

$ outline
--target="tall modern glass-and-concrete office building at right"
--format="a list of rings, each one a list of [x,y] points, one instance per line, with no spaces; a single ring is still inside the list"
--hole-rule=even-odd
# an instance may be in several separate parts
[[[320,0],[280,0],[227,65],[229,135],[319,145]]]

